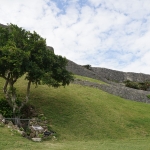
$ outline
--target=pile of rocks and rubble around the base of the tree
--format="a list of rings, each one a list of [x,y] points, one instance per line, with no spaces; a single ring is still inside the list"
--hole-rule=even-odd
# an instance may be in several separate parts
[[[43,116],[43,114],[41,114],[41,116]],[[5,119],[2,114],[0,114],[0,126],[6,126],[7,128],[18,132],[23,137],[32,139],[33,141],[39,142],[43,139],[47,139],[49,136],[56,139],[54,136],[55,132],[48,130],[48,121],[46,119],[29,119],[28,128],[25,131],[22,127],[19,128],[17,125],[14,125],[12,121],[7,121],[7,118]]]

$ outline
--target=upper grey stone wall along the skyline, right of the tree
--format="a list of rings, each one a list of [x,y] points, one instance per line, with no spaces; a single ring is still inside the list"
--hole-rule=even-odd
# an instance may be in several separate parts
[[[143,82],[146,80],[150,81],[150,75],[143,73],[132,73],[132,72],[121,72],[111,70],[107,68],[90,67],[87,69],[81,65],[78,65],[68,60],[67,70],[74,74],[86,76],[94,79],[99,79],[105,82],[123,82],[126,80]]]

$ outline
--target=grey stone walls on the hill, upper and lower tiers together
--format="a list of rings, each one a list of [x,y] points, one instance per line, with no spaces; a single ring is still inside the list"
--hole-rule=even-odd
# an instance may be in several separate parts
[[[84,83],[78,82],[78,84],[93,86],[103,91],[106,91],[110,94],[120,96],[128,100],[150,103],[150,99],[147,97],[147,95],[149,95],[150,93],[149,91],[131,89],[126,87],[124,84],[124,81],[127,80],[136,82],[150,81],[150,75],[141,73],[121,72],[100,67],[99,68],[89,67],[87,69],[70,60],[68,60],[67,70],[77,75],[90,77],[107,83],[107,85],[99,85],[99,86],[85,82]]]

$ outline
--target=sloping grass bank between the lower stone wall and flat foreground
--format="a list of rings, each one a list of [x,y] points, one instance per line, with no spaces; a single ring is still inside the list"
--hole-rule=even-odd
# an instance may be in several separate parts
[[[21,95],[25,85],[23,79],[16,84]],[[127,101],[99,89],[76,84],[58,89],[33,85],[30,102],[46,115],[61,140],[149,136],[149,105]]]

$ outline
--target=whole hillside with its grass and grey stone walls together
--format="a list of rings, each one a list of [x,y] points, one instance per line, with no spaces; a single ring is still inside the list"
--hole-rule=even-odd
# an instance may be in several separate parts
[[[75,74],[69,86],[31,86],[29,103],[46,116],[55,139],[33,144],[0,125],[0,149],[149,149],[150,92],[125,87],[124,81],[143,82],[150,75],[86,68],[70,60],[67,70]],[[0,98],[3,84],[0,78]],[[21,97],[26,85],[24,77],[15,84]]]

